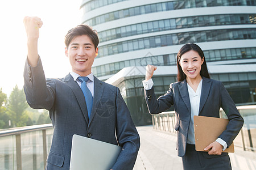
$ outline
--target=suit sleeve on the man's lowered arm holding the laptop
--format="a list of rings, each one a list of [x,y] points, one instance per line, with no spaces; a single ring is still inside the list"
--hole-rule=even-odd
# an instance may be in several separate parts
[[[112,169],[133,169],[140,146],[139,134],[119,88],[116,96],[116,134],[122,151]]]

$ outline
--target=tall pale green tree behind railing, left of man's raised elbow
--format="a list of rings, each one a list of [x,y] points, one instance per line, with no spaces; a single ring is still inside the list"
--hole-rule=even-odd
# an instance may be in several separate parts
[[[9,104],[7,106],[7,113],[10,116],[11,127],[20,127],[32,124],[32,121],[26,112],[27,107],[28,104],[24,91],[19,90],[16,85],[10,94]]]

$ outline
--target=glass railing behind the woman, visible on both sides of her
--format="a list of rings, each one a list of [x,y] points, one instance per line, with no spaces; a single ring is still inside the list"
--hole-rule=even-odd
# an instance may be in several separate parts
[[[256,151],[256,105],[239,106],[237,109],[245,122],[234,140],[234,146],[241,147],[245,151]],[[220,109],[220,117],[227,118],[222,109]],[[152,124],[156,130],[176,133],[174,130],[175,123],[174,111],[152,114]]]

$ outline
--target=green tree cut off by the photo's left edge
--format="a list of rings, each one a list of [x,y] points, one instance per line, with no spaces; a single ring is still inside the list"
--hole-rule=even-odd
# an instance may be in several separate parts
[[[9,128],[9,116],[6,113],[7,95],[0,89],[0,129]]]

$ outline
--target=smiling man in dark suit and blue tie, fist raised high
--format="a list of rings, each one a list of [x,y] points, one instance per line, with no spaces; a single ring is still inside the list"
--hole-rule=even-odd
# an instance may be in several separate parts
[[[91,71],[98,53],[96,31],[83,24],[72,28],[65,36],[65,54],[72,72],[62,79],[46,79],[37,48],[43,22],[28,16],[23,22],[28,45],[26,99],[30,107],[49,111],[54,128],[46,169],[69,169],[73,134],[121,146],[112,169],[133,169],[140,143],[130,112],[119,89],[101,82]],[[80,76],[89,78],[85,86],[93,98],[92,107],[80,88]]]

